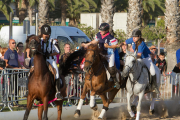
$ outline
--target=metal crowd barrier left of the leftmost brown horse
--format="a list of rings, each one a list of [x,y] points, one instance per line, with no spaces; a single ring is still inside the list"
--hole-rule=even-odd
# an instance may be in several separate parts
[[[18,104],[23,99],[27,90],[28,69],[3,69],[0,71],[0,103],[2,111],[8,107],[12,111],[13,102]]]

